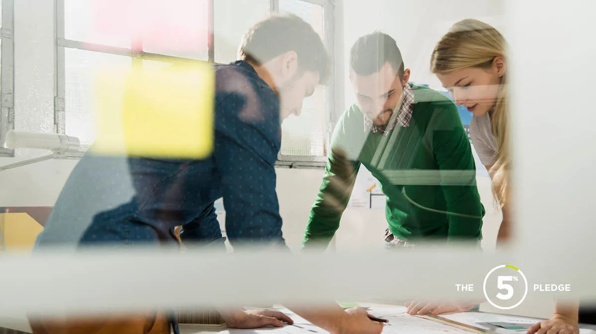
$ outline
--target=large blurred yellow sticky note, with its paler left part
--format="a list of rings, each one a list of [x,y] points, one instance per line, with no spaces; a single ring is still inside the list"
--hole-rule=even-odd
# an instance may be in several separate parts
[[[155,158],[211,154],[215,73],[208,63],[105,71],[97,87],[94,151]]]

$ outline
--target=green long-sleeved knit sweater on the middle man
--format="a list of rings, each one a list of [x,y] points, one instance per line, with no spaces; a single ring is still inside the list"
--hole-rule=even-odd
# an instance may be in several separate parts
[[[439,92],[411,87],[415,99],[409,126],[398,125],[387,135],[365,131],[364,115],[356,105],[343,113],[331,147],[342,149],[347,159],[329,155],[303,246],[326,246],[333,238],[361,164],[387,196],[386,218],[393,235],[412,242],[482,238],[485,210],[457,108]]]

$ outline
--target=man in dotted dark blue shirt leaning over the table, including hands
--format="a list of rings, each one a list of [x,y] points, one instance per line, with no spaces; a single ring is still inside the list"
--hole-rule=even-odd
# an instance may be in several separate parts
[[[185,242],[223,246],[214,202],[223,197],[226,233],[235,247],[285,247],[275,192],[281,121],[298,115],[303,99],[330,74],[324,45],[300,18],[271,17],[244,36],[240,60],[216,66],[215,148],[204,160],[102,157],[91,152],[75,167],[36,244],[157,245]],[[132,199],[131,199],[132,198]],[[124,203],[124,204],[122,204]],[[380,323],[360,309],[296,310],[331,333],[378,334]],[[276,311],[222,311],[228,327],[281,327]],[[169,333],[163,310],[89,321],[31,321],[34,333]],[[114,326],[113,328],[110,326]],[[135,326],[138,326],[135,327]],[[176,331],[176,326],[175,331]],[[127,332],[127,333],[128,333]]]

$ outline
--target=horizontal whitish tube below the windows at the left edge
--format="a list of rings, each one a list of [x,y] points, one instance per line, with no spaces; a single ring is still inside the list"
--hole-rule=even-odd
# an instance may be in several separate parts
[[[80,142],[76,137],[58,133],[35,133],[10,130],[6,137],[6,146],[15,148],[49,149],[53,152],[78,152]]]

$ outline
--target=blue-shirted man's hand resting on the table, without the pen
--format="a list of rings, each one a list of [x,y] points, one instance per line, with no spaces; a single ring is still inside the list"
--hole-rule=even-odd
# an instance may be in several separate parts
[[[228,328],[260,328],[265,326],[283,327],[285,323],[294,323],[290,317],[279,311],[273,310],[228,310],[221,311],[219,313],[224,319],[225,324]]]

